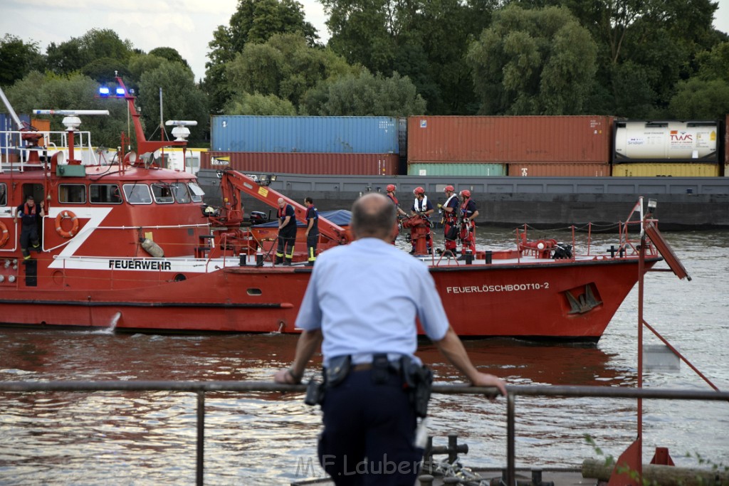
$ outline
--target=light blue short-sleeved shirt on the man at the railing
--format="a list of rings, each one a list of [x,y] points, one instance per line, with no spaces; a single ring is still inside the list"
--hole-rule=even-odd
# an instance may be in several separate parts
[[[448,317],[427,265],[383,240],[363,238],[316,259],[296,327],[321,329],[324,366],[343,355],[356,364],[373,353],[413,356],[416,318],[430,339],[445,337]]]

